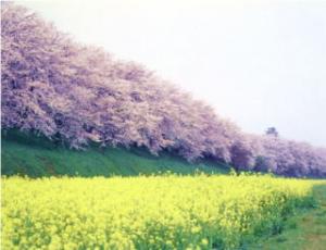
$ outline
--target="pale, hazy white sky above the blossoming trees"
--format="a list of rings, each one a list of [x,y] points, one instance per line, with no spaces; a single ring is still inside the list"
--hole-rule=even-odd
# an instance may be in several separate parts
[[[262,3],[264,2],[264,4]],[[325,1],[20,1],[237,123],[326,146]]]

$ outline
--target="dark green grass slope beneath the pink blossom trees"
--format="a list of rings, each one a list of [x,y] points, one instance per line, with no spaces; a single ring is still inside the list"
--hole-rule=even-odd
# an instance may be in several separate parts
[[[90,146],[86,150],[70,150],[57,146],[42,137],[11,130],[1,136],[2,175],[41,176],[110,176],[139,175],[171,171],[191,174],[196,170],[205,173],[227,173],[227,165],[213,161],[190,164],[171,153],[160,157],[141,148],[99,148]]]

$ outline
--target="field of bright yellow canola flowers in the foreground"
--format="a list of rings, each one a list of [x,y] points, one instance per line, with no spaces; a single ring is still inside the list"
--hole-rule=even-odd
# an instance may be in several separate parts
[[[2,249],[238,249],[313,203],[272,176],[2,177]]]

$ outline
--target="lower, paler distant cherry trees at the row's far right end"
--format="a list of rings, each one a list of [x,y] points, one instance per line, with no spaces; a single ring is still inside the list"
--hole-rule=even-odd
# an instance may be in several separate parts
[[[275,136],[247,135],[253,164],[239,170],[273,172],[285,176],[326,176],[326,149]]]

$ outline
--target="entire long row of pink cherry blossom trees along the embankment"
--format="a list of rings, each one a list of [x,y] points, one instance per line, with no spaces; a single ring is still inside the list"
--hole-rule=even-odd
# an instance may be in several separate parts
[[[211,107],[142,65],[74,42],[35,13],[1,9],[2,129],[20,128],[80,149],[138,146],[238,170],[326,175],[325,149],[246,135]]]

